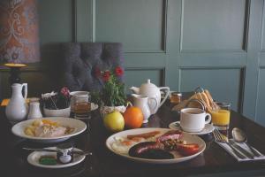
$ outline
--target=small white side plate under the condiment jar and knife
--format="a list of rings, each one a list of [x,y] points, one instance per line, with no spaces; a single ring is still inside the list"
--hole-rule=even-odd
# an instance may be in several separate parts
[[[56,147],[50,147],[49,149],[55,150]],[[73,150],[79,150],[79,149],[74,148]],[[56,157],[57,153],[56,152],[46,152],[46,151],[34,151],[28,155],[27,162],[31,165],[42,167],[42,168],[65,168],[68,166],[77,165],[86,158],[85,156],[73,155],[72,162],[68,163],[68,164],[42,165],[39,163],[39,159],[42,156],[55,156]]]

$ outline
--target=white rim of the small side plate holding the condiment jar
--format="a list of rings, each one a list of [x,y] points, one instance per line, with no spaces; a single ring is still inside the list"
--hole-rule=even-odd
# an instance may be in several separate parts
[[[49,149],[55,149],[55,147],[49,147]],[[73,150],[79,150],[78,148],[73,148]],[[31,152],[28,156],[27,156],[27,162],[30,165],[34,165],[37,167],[42,167],[42,168],[65,168],[65,167],[70,167],[72,165],[78,165],[79,163],[81,163],[82,161],[84,161],[84,159],[86,158],[86,156],[81,155],[80,159],[76,162],[71,162],[68,164],[62,164],[62,165],[42,165],[42,164],[38,164],[38,163],[34,163],[35,161],[32,159],[34,157],[35,154],[38,153],[42,153],[43,151],[33,151]],[[47,152],[47,153],[55,153],[55,152]]]

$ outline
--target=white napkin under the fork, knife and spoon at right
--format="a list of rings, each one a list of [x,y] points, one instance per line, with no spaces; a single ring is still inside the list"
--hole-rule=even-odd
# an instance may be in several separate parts
[[[232,140],[231,140],[232,141]],[[262,160],[262,159],[265,159],[265,156],[263,154],[261,154],[261,152],[259,150],[256,150],[259,154],[261,154],[260,157],[254,157],[254,158],[238,158],[238,156],[233,152],[233,150],[231,149],[231,147],[226,144],[225,142],[216,142],[217,144],[219,144],[224,150],[226,150],[229,154],[231,154],[231,156],[233,158],[236,158],[239,162],[241,161],[249,161],[249,160]],[[238,142],[235,142],[237,143],[241,148],[251,152],[251,150],[247,147],[246,143],[238,143]]]

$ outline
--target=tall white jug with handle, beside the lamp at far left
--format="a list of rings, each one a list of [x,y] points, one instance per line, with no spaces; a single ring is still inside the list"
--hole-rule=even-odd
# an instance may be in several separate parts
[[[24,97],[22,96],[22,89],[24,89]],[[26,119],[27,117],[27,83],[19,84],[14,83],[11,85],[12,96],[11,100],[5,108],[5,114],[11,124]]]

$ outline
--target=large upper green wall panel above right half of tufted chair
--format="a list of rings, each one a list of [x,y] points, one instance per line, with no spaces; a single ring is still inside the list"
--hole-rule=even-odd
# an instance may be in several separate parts
[[[163,0],[98,0],[95,41],[123,42],[127,52],[164,50]]]

